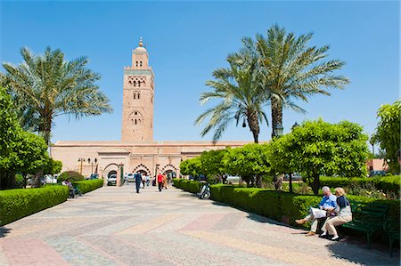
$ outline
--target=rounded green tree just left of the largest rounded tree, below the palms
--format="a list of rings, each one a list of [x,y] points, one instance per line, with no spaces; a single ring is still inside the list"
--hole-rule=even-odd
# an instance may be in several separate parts
[[[270,173],[270,164],[267,158],[267,144],[251,143],[241,148],[228,148],[223,157],[225,172],[241,176],[247,186],[256,181],[258,188],[262,187],[262,175]]]

